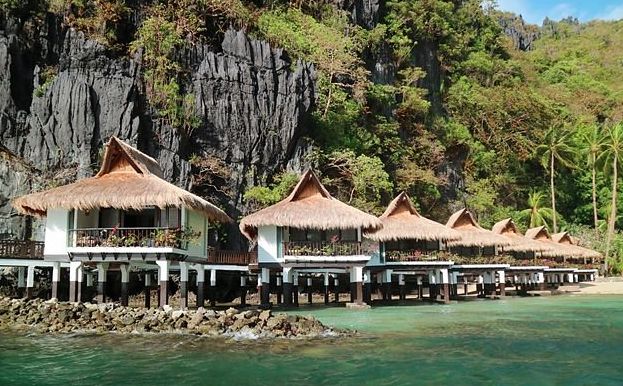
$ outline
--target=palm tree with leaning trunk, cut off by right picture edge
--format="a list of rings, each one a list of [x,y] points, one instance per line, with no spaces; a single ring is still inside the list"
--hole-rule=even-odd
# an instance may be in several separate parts
[[[608,272],[608,257],[610,244],[614,234],[614,225],[617,218],[617,189],[619,182],[619,165],[623,161],[623,122],[608,129],[604,138],[604,152],[597,159],[604,165],[606,174],[612,173],[612,200],[610,202],[610,216],[608,216],[608,236],[606,238],[606,259],[604,269]]]

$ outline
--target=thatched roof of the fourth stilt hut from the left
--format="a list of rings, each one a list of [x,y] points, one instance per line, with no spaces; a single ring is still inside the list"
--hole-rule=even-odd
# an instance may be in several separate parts
[[[457,241],[449,241],[450,247],[503,247],[510,245],[511,242],[508,238],[497,235],[489,230],[482,228],[474,216],[466,209],[463,208],[454,213],[448,219],[446,226],[458,231],[461,234],[461,238]]]

